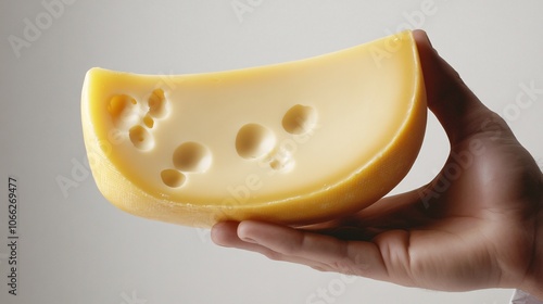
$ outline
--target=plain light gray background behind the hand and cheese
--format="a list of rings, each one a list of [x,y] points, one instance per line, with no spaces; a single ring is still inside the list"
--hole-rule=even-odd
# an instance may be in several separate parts
[[[117,211],[86,167],[80,90],[92,66],[224,71],[421,27],[543,167],[543,94],[516,103],[522,85],[543,89],[542,11],[536,0],[1,1],[0,302],[508,303],[510,290],[443,293],[317,273]],[[24,46],[13,47],[16,38]],[[447,151],[430,115],[420,156],[394,192],[428,182]],[[9,176],[18,180],[17,296],[7,286]],[[59,179],[73,187],[63,191]],[[312,300],[319,289],[330,299]]]

